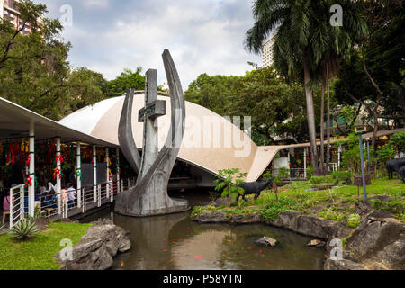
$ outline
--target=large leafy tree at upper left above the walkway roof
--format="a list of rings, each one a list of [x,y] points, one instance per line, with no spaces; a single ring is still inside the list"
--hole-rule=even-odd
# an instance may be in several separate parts
[[[103,76],[85,68],[72,71],[71,45],[61,41],[61,23],[44,17],[46,5],[29,0],[15,5],[31,32],[0,19],[0,96],[56,121],[102,100]]]

